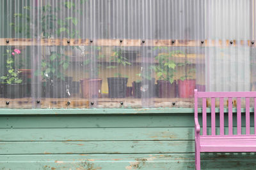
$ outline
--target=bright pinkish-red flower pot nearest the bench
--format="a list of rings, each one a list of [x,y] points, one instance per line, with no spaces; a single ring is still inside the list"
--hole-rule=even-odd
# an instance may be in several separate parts
[[[196,87],[196,80],[178,80],[179,97],[192,98],[194,97],[194,90]]]

